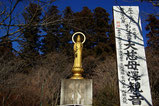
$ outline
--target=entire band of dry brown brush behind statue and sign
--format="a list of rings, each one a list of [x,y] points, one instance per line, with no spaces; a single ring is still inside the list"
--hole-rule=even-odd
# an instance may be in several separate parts
[[[159,56],[147,53],[153,105],[159,106]],[[119,106],[116,58],[83,60],[85,78],[94,82],[94,106]],[[60,100],[61,79],[71,76],[73,58],[50,53],[39,57],[34,67],[21,58],[0,64],[1,106],[56,106]],[[27,70],[23,72],[23,70]]]

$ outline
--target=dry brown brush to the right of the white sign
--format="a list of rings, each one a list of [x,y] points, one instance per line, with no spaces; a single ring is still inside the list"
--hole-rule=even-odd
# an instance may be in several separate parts
[[[152,102],[154,106],[159,106],[159,54],[148,51],[146,56],[151,85]]]

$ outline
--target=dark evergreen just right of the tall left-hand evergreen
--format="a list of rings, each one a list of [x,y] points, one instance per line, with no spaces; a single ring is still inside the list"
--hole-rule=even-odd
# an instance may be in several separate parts
[[[50,52],[59,51],[59,37],[60,27],[61,27],[61,15],[59,15],[59,10],[57,6],[51,6],[48,12],[45,14],[43,21],[46,23],[43,30],[47,33],[42,40],[41,51],[44,54]]]

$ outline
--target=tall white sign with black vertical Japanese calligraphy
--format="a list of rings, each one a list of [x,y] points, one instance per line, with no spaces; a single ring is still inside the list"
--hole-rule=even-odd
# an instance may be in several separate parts
[[[152,106],[138,6],[113,6],[120,106]]]

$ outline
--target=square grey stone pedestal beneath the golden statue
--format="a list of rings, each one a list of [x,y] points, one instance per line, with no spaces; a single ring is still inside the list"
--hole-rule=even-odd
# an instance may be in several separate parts
[[[61,83],[60,106],[92,106],[91,79],[64,79]]]

